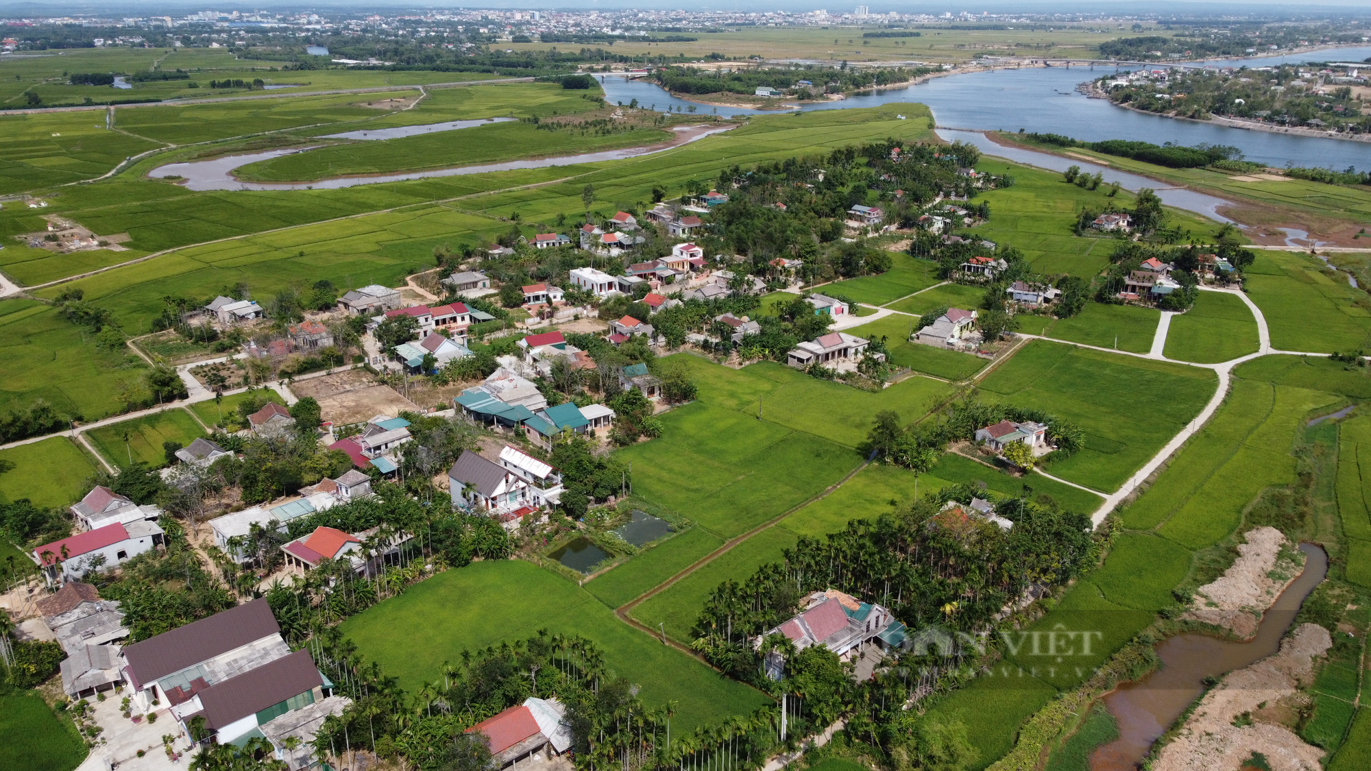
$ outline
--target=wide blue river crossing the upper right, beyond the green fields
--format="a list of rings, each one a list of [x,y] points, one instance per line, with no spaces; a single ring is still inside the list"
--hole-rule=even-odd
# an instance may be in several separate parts
[[[1308,51],[1289,56],[1208,62],[1212,67],[1265,66],[1298,62],[1360,62],[1371,56],[1371,45]],[[1137,67],[1117,67],[1119,71]],[[1019,129],[1058,133],[1080,140],[1105,139],[1143,140],[1156,144],[1226,144],[1242,150],[1248,161],[1268,166],[1326,166],[1345,169],[1371,167],[1371,143],[1339,139],[1298,137],[1271,132],[1254,132],[1219,126],[1202,121],[1180,121],[1127,110],[1111,104],[1108,99],[1089,99],[1076,93],[1076,84],[1116,71],[1113,66],[1095,67],[1026,67],[1020,70],[991,70],[930,78],[905,88],[887,88],[850,95],[840,102],[803,104],[801,111],[851,110],[879,107],[898,102],[919,102],[934,111],[939,126],[950,129],[994,130]],[[803,77],[797,74],[795,77]],[[661,86],[625,80],[620,75],[599,75],[609,102],[628,104],[636,99],[640,106],[666,111],[680,107],[681,112],[695,107],[705,115],[762,115],[768,111],[739,107],[713,107],[677,99]],[[772,111],[773,112],[773,111]],[[995,152],[995,155],[1004,155]]]

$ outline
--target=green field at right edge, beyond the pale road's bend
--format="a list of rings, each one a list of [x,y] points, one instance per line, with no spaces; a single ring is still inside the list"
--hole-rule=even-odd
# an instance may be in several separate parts
[[[1371,303],[1345,276],[1281,251],[1263,251],[1246,273],[1248,296],[1267,318],[1272,347],[1324,354],[1371,348]]]

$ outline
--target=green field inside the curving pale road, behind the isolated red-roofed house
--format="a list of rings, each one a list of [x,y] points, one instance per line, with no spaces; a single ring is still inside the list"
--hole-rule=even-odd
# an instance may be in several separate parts
[[[980,390],[988,401],[1079,425],[1084,449],[1049,471],[1111,491],[1200,413],[1215,384],[1208,369],[1034,340],[982,380]]]

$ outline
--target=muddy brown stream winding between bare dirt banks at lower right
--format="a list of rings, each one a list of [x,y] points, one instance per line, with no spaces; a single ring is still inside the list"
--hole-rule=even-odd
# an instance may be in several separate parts
[[[1294,623],[1304,600],[1328,572],[1328,556],[1316,545],[1301,543],[1304,572],[1267,610],[1249,642],[1230,642],[1204,634],[1180,634],[1157,646],[1161,668],[1124,683],[1105,697],[1119,723],[1119,738],[1090,756],[1091,771],[1134,771],[1176,717],[1204,693],[1204,679],[1241,669],[1272,656]]]

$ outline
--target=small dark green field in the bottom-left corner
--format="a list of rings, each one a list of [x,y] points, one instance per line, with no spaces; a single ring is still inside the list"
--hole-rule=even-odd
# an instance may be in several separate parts
[[[75,726],[58,717],[33,690],[0,694],[0,737],[5,738],[0,768],[71,771],[86,756]]]

